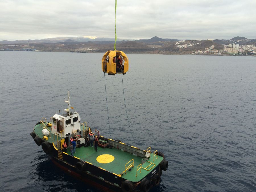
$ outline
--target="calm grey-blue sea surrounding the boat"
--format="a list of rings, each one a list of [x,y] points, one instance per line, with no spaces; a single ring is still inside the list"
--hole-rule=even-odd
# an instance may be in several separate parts
[[[0,51],[1,191],[97,191],[65,174],[29,133],[71,105],[110,137],[103,54]],[[152,191],[256,191],[256,57],[127,54],[105,75],[112,139],[164,153]]]

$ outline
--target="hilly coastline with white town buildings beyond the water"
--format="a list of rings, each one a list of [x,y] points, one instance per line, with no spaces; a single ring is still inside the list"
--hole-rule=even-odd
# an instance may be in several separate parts
[[[55,51],[105,53],[113,49],[111,38],[48,38],[42,40],[0,41],[2,51]],[[189,54],[189,55],[250,55],[256,56],[256,39],[235,37],[230,40],[118,39],[116,49],[125,53]]]

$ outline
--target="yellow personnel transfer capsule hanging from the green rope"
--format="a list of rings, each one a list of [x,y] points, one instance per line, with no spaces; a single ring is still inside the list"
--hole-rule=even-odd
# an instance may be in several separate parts
[[[125,73],[128,71],[128,57],[123,51],[107,51],[102,57],[102,71],[108,75]]]

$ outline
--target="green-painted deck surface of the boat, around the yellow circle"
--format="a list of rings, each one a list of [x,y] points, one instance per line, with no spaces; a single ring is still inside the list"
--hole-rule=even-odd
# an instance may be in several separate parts
[[[34,131],[40,137],[41,137],[41,135],[43,137],[42,127],[40,125],[36,125]],[[58,139],[60,139],[60,137]],[[51,134],[51,138],[48,139],[48,142],[55,142],[55,141],[57,141],[57,136],[55,136],[55,140],[54,140],[54,135]],[[67,149],[67,153],[69,155],[71,154],[69,148]],[[96,158],[99,155],[102,155],[102,154],[110,154],[110,155],[114,156],[115,159],[110,163],[99,163],[96,160]],[[129,152],[125,152],[125,151],[119,150],[117,148],[112,148],[112,149],[102,148],[100,146],[98,146],[98,150],[96,152],[94,147],[91,147],[91,146],[84,147],[84,146],[82,146],[80,148],[76,148],[76,153],[74,154],[74,156],[77,157],[77,158],[80,158],[83,161],[87,161],[87,162],[93,164],[94,166],[103,168],[103,169],[107,170],[108,172],[115,173],[115,174],[121,174],[125,170],[125,164],[127,162],[129,162],[131,159],[133,159],[134,160],[134,167],[131,168],[131,171],[127,171],[127,173],[126,174],[124,173],[121,177],[123,177],[125,179],[128,179],[130,181],[134,181],[134,182],[140,181],[141,179],[143,179],[143,177],[145,177],[148,173],[150,173],[152,170],[154,170],[154,168],[156,168],[156,166],[158,164],[160,164],[160,162],[163,160],[163,158],[161,156],[157,156],[158,157],[157,159],[156,159],[156,156],[155,156],[154,161],[153,161],[154,155],[153,155],[153,153],[151,153],[150,154],[150,159],[147,162],[145,162],[142,165],[142,167],[146,168],[148,165],[150,165],[149,162],[152,162],[156,165],[154,166],[152,164],[151,166],[149,166],[148,169],[150,169],[152,167],[152,169],[150,169],[150,171],[141,169],[141,173],[139,173],[139,171],[138,171],[138,176],[136,177],[137,166],[142,163],[142,157],[136,156],[136,155],[131,154]]]

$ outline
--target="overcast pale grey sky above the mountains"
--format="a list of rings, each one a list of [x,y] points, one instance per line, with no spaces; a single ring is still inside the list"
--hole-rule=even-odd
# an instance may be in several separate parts
[[[256,0],[117,0],[117,38],[256,38]],[[1,0],[0,40],[115,37],[115,0]]]

